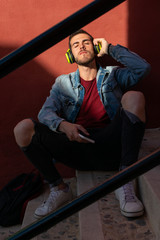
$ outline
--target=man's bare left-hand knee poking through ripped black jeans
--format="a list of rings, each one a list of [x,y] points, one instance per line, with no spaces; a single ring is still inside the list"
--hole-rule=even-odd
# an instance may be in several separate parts
[[[22,120],[14,128],[14,136],[20,147],[28,146],[34,133],[34,123],[31,119]]]

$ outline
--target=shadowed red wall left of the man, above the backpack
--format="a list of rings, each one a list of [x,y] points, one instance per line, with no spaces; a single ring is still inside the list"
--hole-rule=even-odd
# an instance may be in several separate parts
[[[15,50],[15,46],[0,46],[0,58]],[[1,81],[0,101],[0,188],[22,172],[33,169],[15,143],[13,129],[24,118],[37,120],[50,88],[55,80],[53,74],[32,60]],[[74,171],[58,165],[63,177],[72,176]]]

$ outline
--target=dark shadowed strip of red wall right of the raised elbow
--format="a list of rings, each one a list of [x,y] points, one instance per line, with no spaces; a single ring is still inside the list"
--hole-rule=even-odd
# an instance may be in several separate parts
[[[146,97],[147,127],[160,125],[160,2],[128,0],[128,46],[151,64],[151,72],[136,87]]]

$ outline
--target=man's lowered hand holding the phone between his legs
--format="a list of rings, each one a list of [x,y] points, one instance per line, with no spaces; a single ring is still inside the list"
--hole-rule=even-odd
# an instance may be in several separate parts
[[[65,133],[70,141],[88,143],[88,141],[86,141],[85,139],[82,139],[79,136],[79,133],[80,132],[84,133],[87,136],[89,136],[89,133],[83,126],[81,126],[79,124],[62,121],[59,125],[58,130],[60,132]]]

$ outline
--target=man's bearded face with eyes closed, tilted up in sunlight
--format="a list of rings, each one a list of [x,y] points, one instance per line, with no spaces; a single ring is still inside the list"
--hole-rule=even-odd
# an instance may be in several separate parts
[[[93,42],[88,34],[80,33],[71,38],[71,50],[78,65],[87,66],[95,59]]]

